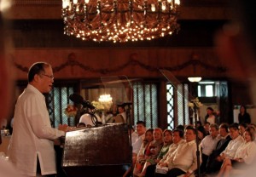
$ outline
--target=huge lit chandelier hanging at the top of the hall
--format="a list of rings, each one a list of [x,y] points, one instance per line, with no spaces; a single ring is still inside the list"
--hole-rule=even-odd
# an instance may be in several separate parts
[[[64,34],[96,42],[151,40],[179,29],[179,0],[62,0]]]

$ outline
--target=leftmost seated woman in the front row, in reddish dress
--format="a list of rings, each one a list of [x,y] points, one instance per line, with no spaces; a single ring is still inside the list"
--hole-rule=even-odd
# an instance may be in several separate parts
[[[147,157],[149,156],[149,145],[154,140],[153,137],[153,128],[148,128],[145,133],[145,138],[143,140],[143,144],[140,148],[140,151],[137,154],[136,161],[134,162],[135,158],[132,159],[132,163],[134,163],[133,167],[133,175],[139,174],[143,170],[143,165],[146,162]]]

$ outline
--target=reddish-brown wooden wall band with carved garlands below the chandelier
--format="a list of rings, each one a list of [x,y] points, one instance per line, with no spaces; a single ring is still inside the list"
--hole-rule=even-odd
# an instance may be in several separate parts
[[[219,71],[226,66],[221,66],[212,48],[15,49],[9,55],[16,66],[22,66],[16,67],[18,79],[26,78],[27,69],[22,68],[41,60],[53,66],[56,79],[113,75],[161,77],[160,68],[172,71],[177,77],[226,77],[228,73],[228,70]]]

